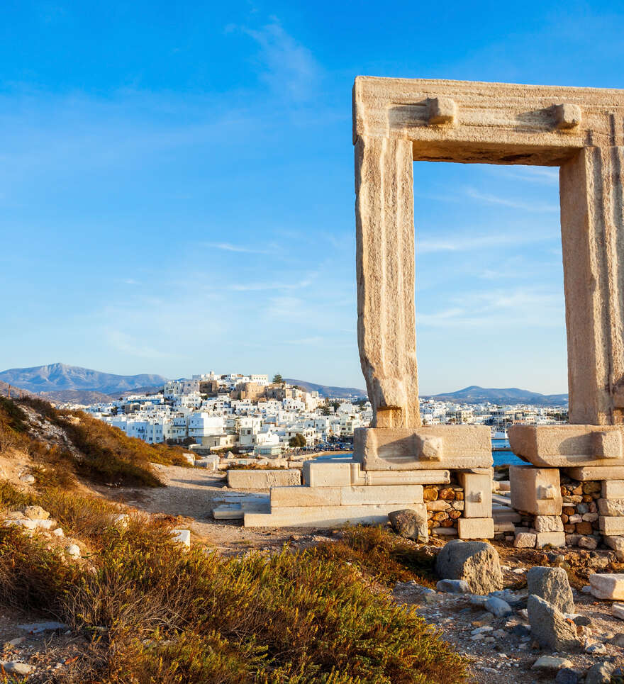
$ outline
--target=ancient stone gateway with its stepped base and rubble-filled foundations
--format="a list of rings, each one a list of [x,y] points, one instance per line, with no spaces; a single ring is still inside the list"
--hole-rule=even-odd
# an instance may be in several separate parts
[[[570,425],[509,431],[530,464],[511,468],[511,528],[526,546],[624,542],[624,92],[357,77],[353,143],[372,427],[351,462],[306,463],[303,486],[272,488],[270,512],[245,525],[381,522],[411,508],[430,532],[494,536],[489,428],[420,424],[412,163],[539,164],[560,167]]]

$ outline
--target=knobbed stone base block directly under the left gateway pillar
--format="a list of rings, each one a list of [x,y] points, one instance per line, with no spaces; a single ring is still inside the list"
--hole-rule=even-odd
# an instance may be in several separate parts
[[[484,425],[360,427],[355,430],[353,459],[365,471],[489,468],[490,429]]]

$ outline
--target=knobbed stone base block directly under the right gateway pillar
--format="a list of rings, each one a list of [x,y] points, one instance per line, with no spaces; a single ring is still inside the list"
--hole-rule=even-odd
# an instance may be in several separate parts
[[[535,466],[624,466],[623,425],[512,425],[509,444]]]

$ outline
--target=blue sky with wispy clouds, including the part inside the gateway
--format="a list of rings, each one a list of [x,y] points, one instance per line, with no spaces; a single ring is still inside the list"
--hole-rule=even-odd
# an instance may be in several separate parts
[[[357,74],[624,87],[609,2],[0,8],[0,369],[363,386]],[[414,165],[421,393],[567,389],[557,169]]]

